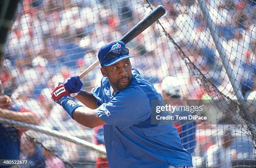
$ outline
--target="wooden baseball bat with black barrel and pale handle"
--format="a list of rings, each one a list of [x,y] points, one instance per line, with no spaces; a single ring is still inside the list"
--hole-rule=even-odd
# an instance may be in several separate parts
[[[130,31],[128,31],[120,39],[120,41],[123,41],[125,44],[127,44],[133,38],[138,36],[141,32],[146,30],[146,28],[148,28],[150,25],[152,25],[156,20],[161,18],[161,16],[164,15],[165,12],[166,12],[166,10],[164,9],[164,7],[162,5],[158,5],[143,20],[141,20],[139,23],[137,23],[135,26],[133,26],[133,28]],[[95,68],[95,66],[97,66],[99,64],[100,64],[99,60],[92,63],[92,65],[90,65],[87,69],[82,71],[81,74],[79,74],[79,78],[81,79],[82,77],[84,77],[88,72],[90,72],[93,68]]]

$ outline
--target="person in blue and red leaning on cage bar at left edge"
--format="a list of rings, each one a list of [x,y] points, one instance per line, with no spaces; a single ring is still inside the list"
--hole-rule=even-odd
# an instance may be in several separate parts
[[[25,107],[13,102],[7,95],[4,95],[2,88],[0,81],[0,117],[37,125],[39,122],[37,116]],[[20,136],[23,132],[25,132],[25,130],[21,128],[18,129],[12,125],[0,123],[1,159],[19,159]],[[3,165],[1,165],[1,167],[2,166]]]

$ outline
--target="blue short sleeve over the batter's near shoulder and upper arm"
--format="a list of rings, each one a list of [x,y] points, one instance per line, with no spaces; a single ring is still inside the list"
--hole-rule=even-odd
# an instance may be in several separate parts
[[[128,88],[118,91],[110,102],[98,107],[97,115],[108,125],[124,130],[150,117],[150,101],[143,90]]]

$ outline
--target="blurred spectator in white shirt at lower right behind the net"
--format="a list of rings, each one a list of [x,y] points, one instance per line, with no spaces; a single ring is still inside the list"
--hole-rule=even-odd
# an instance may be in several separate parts
[[[207,167],[215,168],[231,168],[232,160],[236,159],[236,150],[231,149],[231,144],[234,137],[231,135],[230,130],[225,130],[220,142],[208,148],[206,163]]]

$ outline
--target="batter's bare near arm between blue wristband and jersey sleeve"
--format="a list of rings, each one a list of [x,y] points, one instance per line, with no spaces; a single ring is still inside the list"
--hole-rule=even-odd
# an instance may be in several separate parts
[[[100,119],[95,110],[88,110],[85,107],[78,107],[73,113],[74,120],[89,128],[94,128],[106,123]]]

